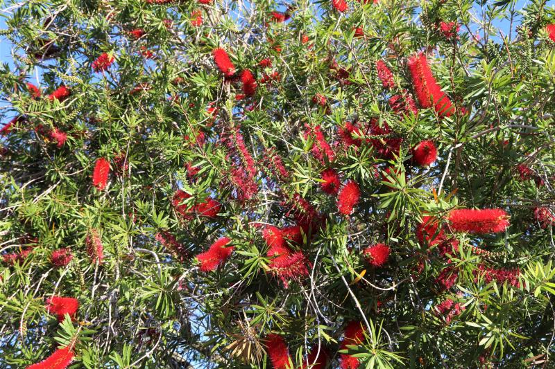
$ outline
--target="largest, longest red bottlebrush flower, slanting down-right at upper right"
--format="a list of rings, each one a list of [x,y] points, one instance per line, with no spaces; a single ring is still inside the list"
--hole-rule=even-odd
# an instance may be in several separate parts
[[[411,72],[414,91],[421,107],[434,107],[439,116],[451,116],[453,106],[451,100],[441,91],[424,53],[409,58],[409,71]]]

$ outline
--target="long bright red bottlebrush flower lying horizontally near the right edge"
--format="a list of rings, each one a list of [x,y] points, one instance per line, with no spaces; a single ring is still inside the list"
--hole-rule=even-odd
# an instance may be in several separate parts
[[[456,209],[449,221],[455,232],[498,233],[509,226],[509,215],[502,209]]]

